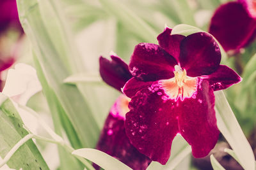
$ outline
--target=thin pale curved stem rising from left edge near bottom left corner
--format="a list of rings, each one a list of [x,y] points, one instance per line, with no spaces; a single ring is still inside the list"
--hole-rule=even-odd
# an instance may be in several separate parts
[[[10,160],[12,155],[20,148],[20,146],[22,146],[24,143],[26,143],[26,141],[28,141],[29,139],[31,139],[33,137],[34,137],[34,134],[28,134],[24,138],[20,139],[20,141],[18,143],[16,143],[16,145],[13,146],[13,148],[10,150],[10,152],[8,152],[6,154],[6,156],[4,157],[3,161],[0,164],[0,167],[4,166],[4,164],[6,164],[8,162],[8,160]]]

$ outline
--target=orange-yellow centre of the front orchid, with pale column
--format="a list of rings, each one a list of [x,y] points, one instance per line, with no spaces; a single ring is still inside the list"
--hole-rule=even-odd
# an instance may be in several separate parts
[[[171,98],[180,99],[183,101],[186,97],[192,97],[196,92],[197,78],[187,76],[185,69],[178,65],[175,67],[174,77],[169,80],[161,80],[161,86],[163,87],[166,94]]]

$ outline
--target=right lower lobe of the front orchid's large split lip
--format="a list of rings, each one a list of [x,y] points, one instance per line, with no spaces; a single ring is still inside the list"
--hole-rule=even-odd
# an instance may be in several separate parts
[[[177,107],[179,129],[193,156],[205,157],[216,145],[220,132],[216,125],[214,94],[209,82],[202,80],[195,97],[186,98]]]

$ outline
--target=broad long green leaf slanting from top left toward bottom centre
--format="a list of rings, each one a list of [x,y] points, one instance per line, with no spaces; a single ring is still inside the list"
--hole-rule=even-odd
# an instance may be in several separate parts
[[[58,1],[17,1],[20,22],[33,45],[47,84],[60,101],[60,115],[67,116],[65,120],[70,121],[83,146],[94,147],[99,127],[86,98],[76,86],[63,84],[70,74],[83,71],[83,62],[74,50],[70,32],[60,15],[61,4],[56,3]]]

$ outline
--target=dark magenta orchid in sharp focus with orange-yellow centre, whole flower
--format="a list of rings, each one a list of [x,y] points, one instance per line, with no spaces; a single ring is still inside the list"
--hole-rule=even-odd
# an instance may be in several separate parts
[[[220,65],[220,48],[210,34],[171,36],[171,31],[166,27],[157,37],[159,45],[135,46],[129,64],[134,78],[123,89],[131,98],[125,115],[128,138],[161,164],[169,159],[177,134],[191,145],[194,157],[205,157],[214,148],[220,132],[213,92],[241,81]]]

